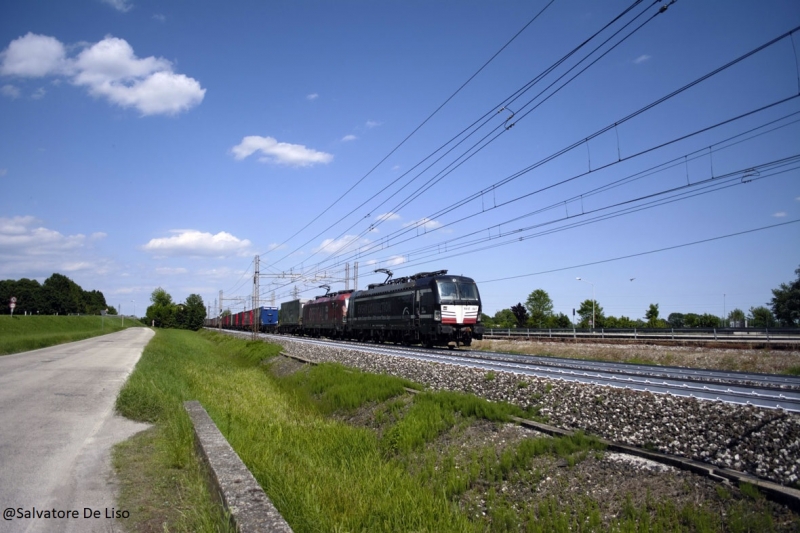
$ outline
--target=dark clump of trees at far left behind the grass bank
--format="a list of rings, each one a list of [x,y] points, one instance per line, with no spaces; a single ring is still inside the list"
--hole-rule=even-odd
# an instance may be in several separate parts
[[[17,299],[15,315],[117,314],[100,291],[86,291],[63,274],[53,274],[44,283],[35,279],[0,281],[0,314],[11,314],[11,298]]]

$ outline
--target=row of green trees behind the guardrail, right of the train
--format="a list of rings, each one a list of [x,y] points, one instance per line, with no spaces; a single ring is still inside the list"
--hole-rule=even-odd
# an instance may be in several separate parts
[[[772,289],[772,299],[767,304],[751,307],[747,313],[734,309],[727,317],[710,313],[670,313],[661,318],[658,304],[652,303],[645,310],[644,319],[627,316],[606,316],[603,307],[596,300],[584,300],[575,310],[578,321],[576,327],[590,328],[715,328],[715,327],[800,327],[800,268],[795,271],[797,278],[789,283],[781,283]],[[594,320],[594,324],[592,321]],[[483,325],[488,328],[570,328],[570,317],[564,313],[553,313],[553,300],[544,289],[536,289],[528,295],[525,303],[517,303],[501,309],[493,317],[481,314]]]

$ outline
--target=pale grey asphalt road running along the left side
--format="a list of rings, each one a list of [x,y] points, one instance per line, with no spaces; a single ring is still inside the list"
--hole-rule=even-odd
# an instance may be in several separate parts
[[[131,510],[115,507],[109,452],[148,426],[116,416],[114,401],[153,335],[0,357],[0,532],[119,530],[107,514]]]

